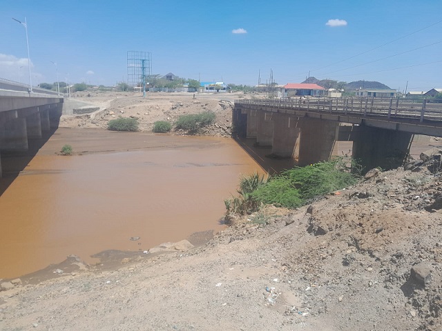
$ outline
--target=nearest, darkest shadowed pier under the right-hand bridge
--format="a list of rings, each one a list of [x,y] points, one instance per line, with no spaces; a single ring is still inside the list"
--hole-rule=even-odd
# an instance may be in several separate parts
[[[403,164],[410,152],[411,133],[367,126],[360,128],[352,154],[365,171],[376,167],[392,169]]]

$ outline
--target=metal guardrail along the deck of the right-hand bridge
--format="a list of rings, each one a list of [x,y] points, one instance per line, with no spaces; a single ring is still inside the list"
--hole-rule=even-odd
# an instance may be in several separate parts
[[[377,98],[237,99],[235,104],[358,117],[381,116],[387,119],[419,119],[420,122],[442,121],[442,103],[429,103],[428,99],[419,101]]]

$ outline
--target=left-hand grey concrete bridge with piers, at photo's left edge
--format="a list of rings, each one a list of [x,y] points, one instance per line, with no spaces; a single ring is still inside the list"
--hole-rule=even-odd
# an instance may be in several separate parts
[[[1,154],[28,151],[31,139],[58,128],[63,97],[56,92],[0,79],[0,178]]]

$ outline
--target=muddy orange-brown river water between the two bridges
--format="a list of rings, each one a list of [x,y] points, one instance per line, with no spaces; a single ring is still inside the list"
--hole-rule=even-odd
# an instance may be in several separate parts
[[[65,143],[75,155],[56,154]],[[223,199],[254,171],[233,139],[60,128],[0,196],[0,278],[221,230]]]

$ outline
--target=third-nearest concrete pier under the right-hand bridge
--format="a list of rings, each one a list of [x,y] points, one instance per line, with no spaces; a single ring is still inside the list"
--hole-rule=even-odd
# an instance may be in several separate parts
[[[278,157],[294,157],[296,141],[300,134],[298,117],[273,114],[273,146],[271,154]]]

